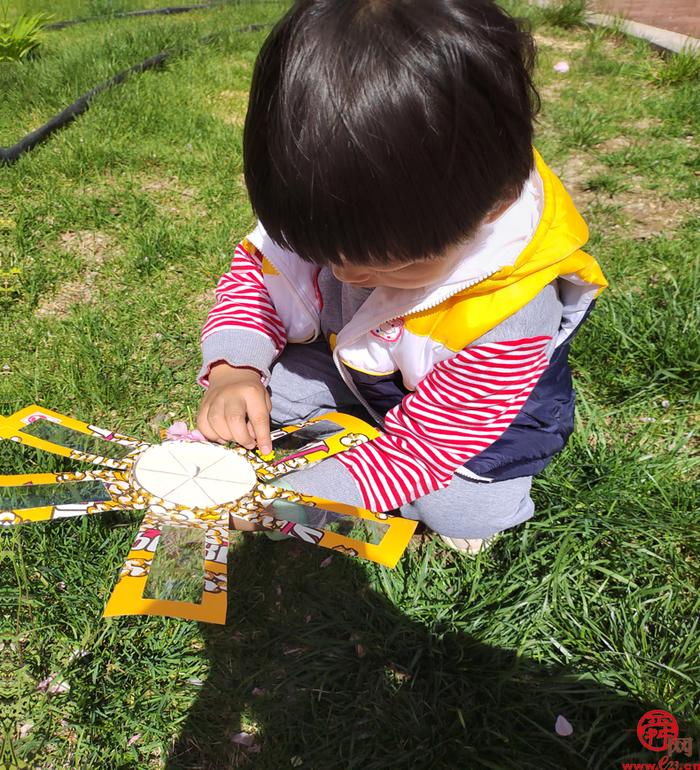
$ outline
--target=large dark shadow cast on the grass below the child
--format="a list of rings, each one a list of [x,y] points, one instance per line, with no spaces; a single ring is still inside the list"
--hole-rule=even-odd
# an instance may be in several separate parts
[[[658,759],[628,732],[651,706],[480,642],[450,622],[459,596],[413,620],[382,595],[381,568],[341,555],[321,568],[327,556],[259,536],[232,544],[228,622],[204,629],[209,673],[167,770],[619,770]],[[569,737],[555,732],[560,714]],[[242,731],[252,748],[234,741]]]

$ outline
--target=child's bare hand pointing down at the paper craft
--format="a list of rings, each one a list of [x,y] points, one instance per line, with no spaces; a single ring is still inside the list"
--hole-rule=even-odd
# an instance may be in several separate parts
[[[270,409],[270,396],[257,371],[220,363],[209,372],[197,427],[209,441],[236,441],[246,449],[253,449],[257,441],[265,455],[272,451]]]

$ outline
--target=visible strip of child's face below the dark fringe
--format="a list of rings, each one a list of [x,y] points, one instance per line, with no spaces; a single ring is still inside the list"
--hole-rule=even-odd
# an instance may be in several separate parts
[[[388,286],[392,289],[418,289],[447,276],[459,261],[461,249],[456,247],[444,257],[408,264],[384,264],[380,267],[333,265],[333,275],[351,286]]]

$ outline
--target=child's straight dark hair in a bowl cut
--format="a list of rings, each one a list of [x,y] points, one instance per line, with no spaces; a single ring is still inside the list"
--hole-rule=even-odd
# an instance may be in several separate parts
[[[299,0],[255,65],[255,213],[317,264],[444,254],[530,174],[533,62],[492,0]]]

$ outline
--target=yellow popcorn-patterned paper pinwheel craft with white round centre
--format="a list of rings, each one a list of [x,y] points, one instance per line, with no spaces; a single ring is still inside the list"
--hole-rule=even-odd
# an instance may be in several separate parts
[[[396,565],[416,522],[274,485],[287,473],[378,435],[357,418],[327,414],[273,431],[273,447],[288,454],[267,462],[240,446],[190,440],[151,444],[30,406],[0,417],[0,440],[107,470],[0,476],[0,525],[145,510],[105,616],[224,623],[229,515]]]

